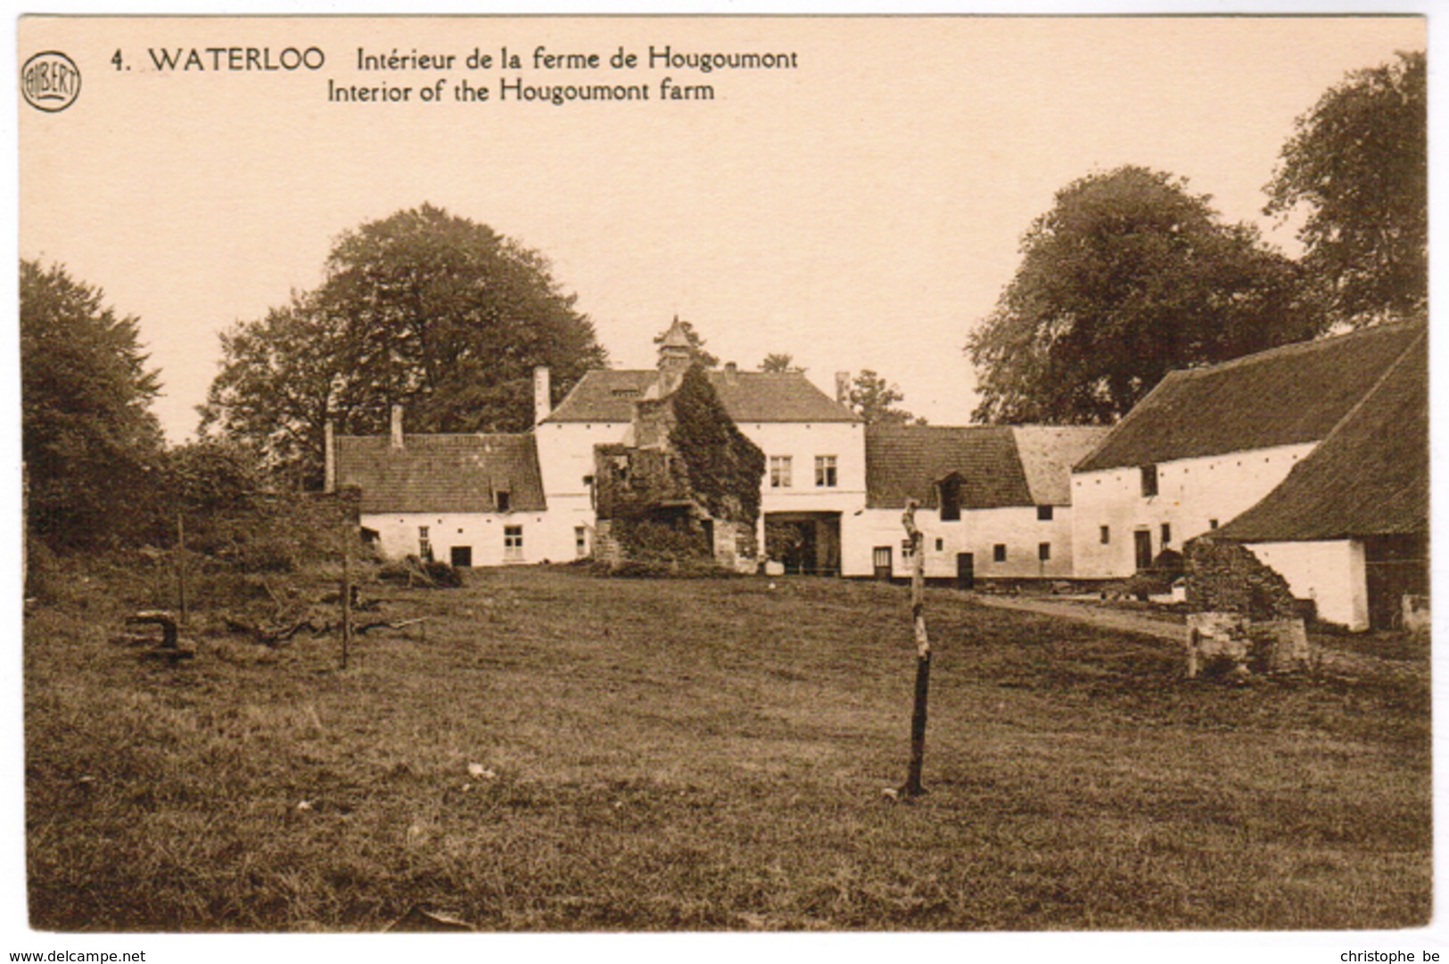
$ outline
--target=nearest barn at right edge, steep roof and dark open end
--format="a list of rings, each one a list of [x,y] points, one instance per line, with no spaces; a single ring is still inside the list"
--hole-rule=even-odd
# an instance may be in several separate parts
[[[1243,542],[1349,629],[1400,625],[1429,593],[1429,332],[1323,442],[1217,533]]]

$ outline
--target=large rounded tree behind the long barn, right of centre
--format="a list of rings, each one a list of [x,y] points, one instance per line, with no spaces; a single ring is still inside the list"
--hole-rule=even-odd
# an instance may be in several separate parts
[[[966,342],[977,420],[1108,423],[1174,368],[1321,331],[1297,303],[1297,265],[1171,174],[1072,181],[1022,252]]]

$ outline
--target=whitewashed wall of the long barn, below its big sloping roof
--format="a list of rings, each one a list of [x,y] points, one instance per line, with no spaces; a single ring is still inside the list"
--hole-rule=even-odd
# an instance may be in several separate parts
[[[1136,571],[1133,532],[1152,533],[1152,555],[1227,525],[1272,491],[1316,442],[1184,458],[1158,464],[1158,494],[1142,494],[1137,467],[1072,473],[1072,557],[1081,578],[1122,578]],[[1103,544],[1101,526],[1110,541]]]

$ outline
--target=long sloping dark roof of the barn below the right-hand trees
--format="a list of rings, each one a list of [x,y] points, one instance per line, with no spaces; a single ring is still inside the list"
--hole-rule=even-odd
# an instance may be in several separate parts
[[[1077,471],[1317,442],[1424,331],[1378,325],[1172,371]]]

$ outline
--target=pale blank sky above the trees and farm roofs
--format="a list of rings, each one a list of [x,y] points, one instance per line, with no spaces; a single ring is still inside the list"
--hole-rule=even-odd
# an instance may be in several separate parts
[[[903,407],[962,423],[965,341],[1058,190],[1169,171],[1297,254],[1294,225],[1261,212],[1294,119],[1424,43],[1421,17],[32,17],[22,61],[65,52],[83,87],[62,112],[20,107],[19,252],[141,319],[172,441],[196,431],[219,332],[317,286],[341,232],[425,201],[548,257],[616,367],[653,365],[678,315],[724,361],[790,354],[826,390],[872,368]],[[601,65],[535,67],[539,46]],[[651,46],[796,67],[651,68]],[[207,70],[155,68],[191,48]],[[325,64],[217,71],[207,48]],[[358,48],[455,61],[362,71]],[[491,68],[465,65],[475,48]],[[619,48],[639,67],[610,68]],[[661,101],[667,77],[713,99]],[[455,100],[462,80],[490,99]],[[500,100],[504,81],[649,100]],[[329,83],[413,90],[335,103]]]

